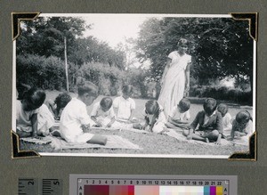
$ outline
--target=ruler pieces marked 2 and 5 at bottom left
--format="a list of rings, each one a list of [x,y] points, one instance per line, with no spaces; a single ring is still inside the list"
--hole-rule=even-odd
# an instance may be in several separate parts
[[[19,178],[19,195],[61,195],[62,180]]]

